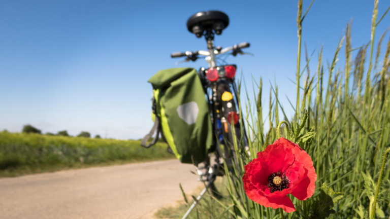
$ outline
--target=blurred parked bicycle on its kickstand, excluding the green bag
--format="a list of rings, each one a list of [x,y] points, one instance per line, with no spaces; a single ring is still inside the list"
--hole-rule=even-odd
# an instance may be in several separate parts
[[[186,57],[185,60],[181,62],[194,62],[197,61],[200,56],[205,57],[208,62],[209,67],[207,69],[201,67],[198,74],[205,91],[206,99],[209,103],[211,120],[215,133],[212,150],[212,152],[215,152],[215,164],[211,165],[209,159],[204,162],[203,167],[197,167],[200,176],[199,180],[207,182],[206,188],[191,205],[183,218],[186,218],[208,188],[211,189],[214,196],[220,197],[214,185],[215,178],[224,174],[222,171],[223,168],[221,168],[223,164],[220,163],[220,158],[222,157],[229,166],[229,163],[234,162],[236,156],[236,153],[232,153],[234,151],[234,144],[244,145],[244,150],[247,146],[247,135],[245,133],[245,128],[241,129],[241,126],[244,124],[240,125],[240,118],[237,111],[238,106],[236,105],[238,102],[238,89],[234,79],[237,65],[227,64],[224,60],[220,59],[220,56],[223,54],[231,54],[233,56],[236,56],[237,54],[250,54],[242,51],[242,49],[248,48],[250,44],[240,43],[224,49],[220,46],[214,47],[214,34],[220,35],[228,25],[228,15],[220,11],[199,12],[192,15],[187,20],[187,29],[189,32],[195,34],[197,38],[202,38],[202,36],[204,36],[208,50],[175,52],[171,54],[172,58]],[[218,64],[217,60],[221,60],[223,63]],[[178,63],[180,62],[177,62],[176,64]],[[232,127],[234,127],[234,131],[232,130]],[[243,130],[243,132],[241,132],[241,130]],[[234,138],[234,133],[236,138]],[[234,142],[234,139],[237,139],[237,142]],[[221,152],[219,144],[224,145],[223,152]],[[198,166],[198,164],[195,165]],[[202,172],[202,170],[206,171]]]

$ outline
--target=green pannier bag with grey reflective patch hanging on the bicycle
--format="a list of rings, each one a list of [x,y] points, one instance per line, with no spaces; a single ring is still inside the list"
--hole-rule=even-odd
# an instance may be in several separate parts
[[[205,161],[213,142],[213,132],[209,106],[197,70],[160,70],[148,82],[153,86],[154,125],[141,145],[151,147],[161,133],[180,162]],[[154,139],[147,144],[154,133]]]

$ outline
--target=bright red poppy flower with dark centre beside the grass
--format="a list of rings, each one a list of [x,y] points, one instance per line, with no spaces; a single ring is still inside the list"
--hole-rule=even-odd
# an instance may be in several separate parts
[[[244,190],[248,198],[265,207],[295,211],[287,194],[310,198],[317,174],[310,156],[298,144],[279,138],[245,165]]]

